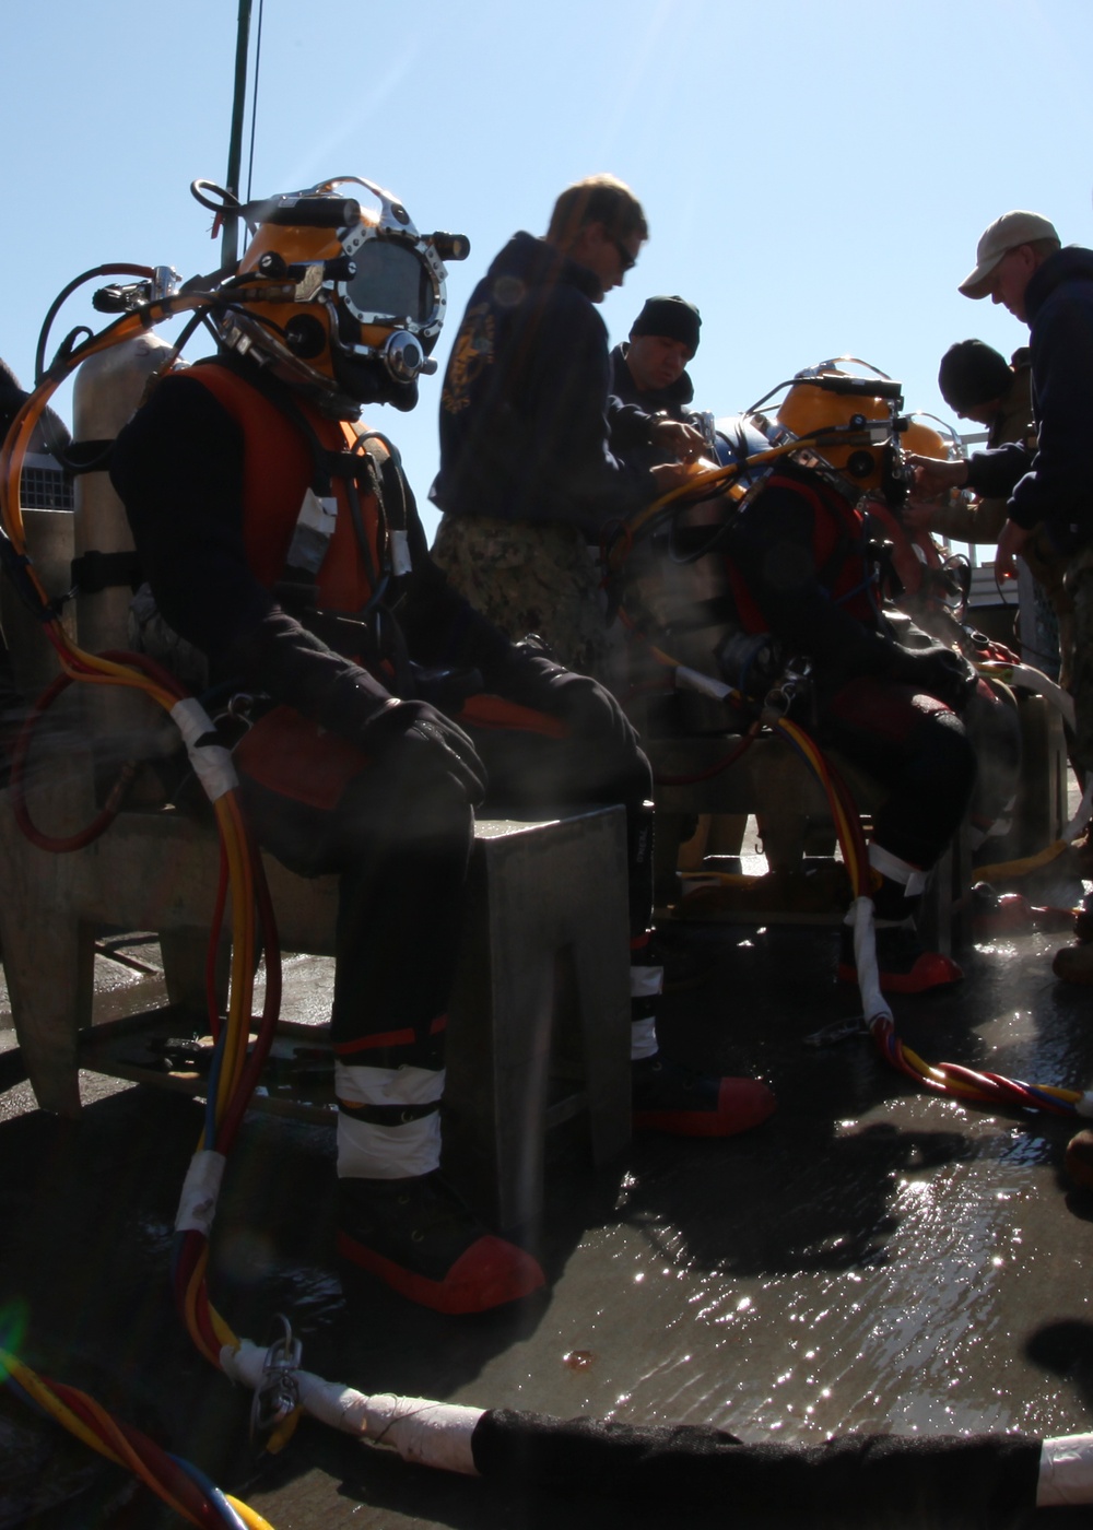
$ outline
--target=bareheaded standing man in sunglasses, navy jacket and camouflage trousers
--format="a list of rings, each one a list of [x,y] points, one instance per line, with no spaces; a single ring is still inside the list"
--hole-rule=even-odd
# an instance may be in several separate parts
[[[595,304],[648,236],[622,181],[568,187],[546,234],[514,234],[471,292],[441,396],[433,557],[504,632],[536,632],[586,673],[606,650],[602,532],[681,482],[703,444],[692,427],[609,396]],[[670,461],[628,459],[651,444]]]

